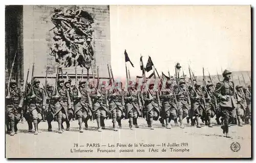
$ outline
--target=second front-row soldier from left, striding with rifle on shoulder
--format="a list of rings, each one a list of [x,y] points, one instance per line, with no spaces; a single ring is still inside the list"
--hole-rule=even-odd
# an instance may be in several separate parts
[[[43,97],[44,90],[39,88],[39,83],[38,79],[34,79],[33,86],[29,89],[27,95],[28,111],[32,114],[35,127],[34,134],[38,134],[38,124],[42,120],[42,107],[46,107],[46,99]]]

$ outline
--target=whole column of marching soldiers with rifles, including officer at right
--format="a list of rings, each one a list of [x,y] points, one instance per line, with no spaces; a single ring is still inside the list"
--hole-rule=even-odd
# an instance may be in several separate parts
[[[138,82],[127,80],[128,87],[125,89],[121,82],[113,80],[112,74],[111,89],[106,89],[103,84],[98,90],[99,84],[97,86],[95,81],[89,83],[83,78],[79,86],[72,87],[68,77],[59,77],[55,88],[47,84],[44,89],[39,87],[38,79],[33,79],[31,85],[26,85],[25,91],[17,87],[15,80],[10,80],[6,89],[7,132],[10,135],[17,133],[22,113],[28,123],[28,132],[34,134],[40,132],[38,124],[42,117],[48,122],[48,131],[52,131],[51,123],[55,120],[58,133],[63,133],[63,123],[69,130],[74,117],[78,120],[79,132],[89,129],[88,120],[92,118],[101,132],[108,117],[112,118],[113,130],[117,131],[122,128],[123,119],[129,119],[131,129],[139,128],[138,117],[143,117],[150,129],[154,129],[153,121],[158,120],[167,129],[172,128],[172,120],[176,126],[184,128],[184,118],[197,128],[201,128],[199,118],[206,126],[213,127],[211,119],[216,115],[218,125],[228,138],[230,123],[234,121],[242,126],[243,121],[250,121],[250,86],[247,89],[241,85],[235,87],[228,70],[223,71],[223,81],[216,86],[213,83],[206,85],[206,82],[203,85],[194,84],[191,74],[189,86],[186,80],[178,79],[175,83],[164,74],[160,87],[154,87],[154,84],[140,86]]]

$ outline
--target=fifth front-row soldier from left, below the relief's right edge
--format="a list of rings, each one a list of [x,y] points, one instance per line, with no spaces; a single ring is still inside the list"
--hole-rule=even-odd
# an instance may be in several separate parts
[[[109,102],[107,99],[108,93],[105,86],[102,85],[100,91],[95,88],[94,84],[92,84],[93,91],[91,94],[92,103],[93,103],[93,114],[95,115],[98,131],[101,132],[102,129],[105,129],[104,119],[108,116],[109,111]]]

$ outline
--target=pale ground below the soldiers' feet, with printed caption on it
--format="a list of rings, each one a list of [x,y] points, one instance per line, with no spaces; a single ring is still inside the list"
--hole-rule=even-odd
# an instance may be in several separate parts
[[[173,126],[172,129],[166,129],[161,127],[159,122],[154,123],[155,130],[150,130],[147,128],[144,119],[138,119],[140,128],[130,130],[128,120],[122,120],[123,128],[115,132],[112,130],[112,120],[105,120],[106,129],[98,132],[96,121],[89,121],[89,130],[84,130],[83,133],[80,133],[78,131],[78,121],[72,121],[70,131],[59,134],[57,133],[57,122],[52,123],[52,132],[48,132],[47,122],[41,122],[39,123],[39,128],[42,132],[38,135],[27,132],[28,126],[26,122],[19,123],[17,134],[13,137],[6,134],[6,157],[251,156],[250,125],[243,127],[232,125],[230,127],[232,138],[225,138],[220,126],[216,125],[215,122],[213,128],[207,126],[196,128],[189,126],[184,120],[184,129],[176,126]],[[172,125],[174,125],[173,122]],[[239,151],[233,152],[230,149],[230,145],[233,142],[240,144]],[[123,146],[117,146],[118,143]],[[141,143],[150,147],[141,147]],[[133,147],[128,147],[129,144],[133,145]],[[175,147],[167,147],[168,144]],[[239,149],[239,146],[236,147],[235,149]],[[76,152],[79,149],[80,152]],[[105,149],[109,151],[104,151]],[[87,151],[81,152],[81,150]],[[114,150],[115,152],[113,152]],[[164,150],[166,151],[164,152]]]

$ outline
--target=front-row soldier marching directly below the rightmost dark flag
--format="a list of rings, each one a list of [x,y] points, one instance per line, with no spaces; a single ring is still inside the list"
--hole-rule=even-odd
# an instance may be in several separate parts
[[[150,85],[150,89],[144,90],[142,93],[144,106],[146,111],[146,121],[148,127],[153,128],[153,120],[157,121],[160,115],[161,107],[159,92],[154,91],[154,84]]]

